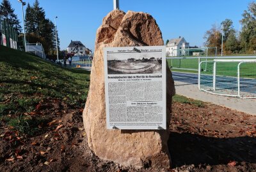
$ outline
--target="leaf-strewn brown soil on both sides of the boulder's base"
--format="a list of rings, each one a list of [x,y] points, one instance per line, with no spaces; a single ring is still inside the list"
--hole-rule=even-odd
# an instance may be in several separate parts
[[[49,104],[52,104],[49,106]],[[35,136],[0,122],[0,171],[255,171],[256,117],[214,104],[173,103],[168,146],[173,169],[136,170],[90,151],[83,109],[42,104],[48,120]],[[40,115],[40,114],[35,114]],[[42,114],[41,114],[42,115]]]

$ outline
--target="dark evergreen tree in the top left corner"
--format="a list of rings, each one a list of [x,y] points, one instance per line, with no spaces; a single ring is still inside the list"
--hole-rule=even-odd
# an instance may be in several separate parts
[[[17,15],[14,13],[14,9],[9,0],[3,0],[0,4],[0,18],[3,20],[5,18],[7,22],[12,25],[18,32],[21,32],[22,28],[20,26],[20,21]]]

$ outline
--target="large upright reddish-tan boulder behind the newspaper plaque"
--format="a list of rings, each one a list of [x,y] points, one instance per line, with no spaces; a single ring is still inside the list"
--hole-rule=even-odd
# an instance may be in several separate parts
[[[95,53],[90,78],[90,90],[83,111],[88,145],[93,152],[108,161],[141,168],[169,168],[170,154],[167,130],[108,130],[104,93],[104,47],[164,45],[156,20],[147,13],[113,10],[97,30]],[[170,125],[172,96],[175,94],[172,73],[167,68],[167,127]]]

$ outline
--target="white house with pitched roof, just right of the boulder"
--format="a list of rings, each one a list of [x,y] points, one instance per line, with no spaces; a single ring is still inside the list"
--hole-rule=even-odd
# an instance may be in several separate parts
[[[166,45],[166,55],[171,57],[179,57],[184,54],[182,49],[189,48],[189,43],[183,37],[170,39]]]

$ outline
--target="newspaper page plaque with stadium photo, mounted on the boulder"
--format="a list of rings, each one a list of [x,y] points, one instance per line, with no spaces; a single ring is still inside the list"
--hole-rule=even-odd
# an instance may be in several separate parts
[[[107,129],[166,129],[165,50],[104,48]]]

